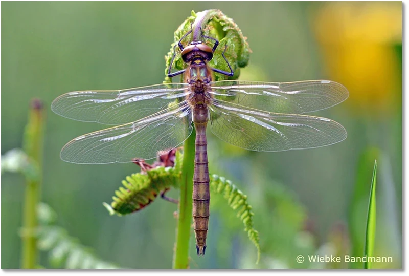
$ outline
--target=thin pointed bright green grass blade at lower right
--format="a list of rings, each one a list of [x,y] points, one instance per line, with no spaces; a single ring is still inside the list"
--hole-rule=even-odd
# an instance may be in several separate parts
[[[369,194],[369,206],[368,206],[368,218],[367,218],[367,231],[365,239],[365,256],[372,257],[375,247],[375,230],[376,230],[376,160],[374,165],[374,172],[372,175],[371,192]],[[371,268],[372,262],[366,261],[363,264],[363,268]]]

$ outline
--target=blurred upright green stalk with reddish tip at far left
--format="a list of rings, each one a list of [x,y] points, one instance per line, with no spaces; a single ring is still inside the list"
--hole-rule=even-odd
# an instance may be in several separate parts
[[[24,134],[24,151],[30,163],[36,168],[33,174],[25,174],[26,191],[24,214],[22,222],[22,258],[21,268],[37,267],[37,205],[40,200],[42,181],[42,150],[43,150],[44,109],[40,100],[31,102],[28,123]]]

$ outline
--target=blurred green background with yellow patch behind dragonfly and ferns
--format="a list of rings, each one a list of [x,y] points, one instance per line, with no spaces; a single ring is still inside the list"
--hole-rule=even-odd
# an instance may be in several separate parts
[[[253,207],[261,262],[255,265],[257,251],[236,211],[212,195],[206,256],[196,256],[192,232],[190,267],[356,266],[299,264],[296,257],[363,254],[377,159],[375,256],[393,262],[374,266],[401,268],[401,2],[3,2],[2,157],[22,147],[30,102],[41,99],[40,200],[54,209],[67,240],[118,267],[171,268],[177,206],[157,199],[135,214],[110,216],[102,203],[110,203],[121,180],[139,167],[63,162],[59,152],[66,142],[104,125],[60,117],[50,104],[70,91],[161,83],[174,31],[192,10],[206,9],[220,9],[247,37],[253,53],[240,79],[344,84],[346,101],[311,115],[341,123],[348,138],[311,150],[263,153],[208,132],[210,172],[232,180]],[[18,268],[25,178],[5,172],[1,180],[1,268]],[[40,265],[70,267],[61,252],[61,246],[42,250]]]

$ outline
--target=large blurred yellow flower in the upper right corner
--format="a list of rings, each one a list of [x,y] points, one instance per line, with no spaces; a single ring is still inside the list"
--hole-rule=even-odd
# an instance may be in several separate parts
[[[329,77],[348,88],[354,110],[400,104],[401,2],[328,2],[313,14],[312,27]]]

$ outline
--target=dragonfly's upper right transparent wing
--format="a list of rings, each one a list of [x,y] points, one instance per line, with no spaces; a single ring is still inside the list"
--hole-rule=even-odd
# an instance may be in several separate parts
[[[303,114],[326,109],[348,98],[348,90],[334,81],[256,82],[223,80],[212,83],[216,99],[266,112]]]

